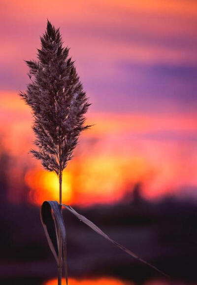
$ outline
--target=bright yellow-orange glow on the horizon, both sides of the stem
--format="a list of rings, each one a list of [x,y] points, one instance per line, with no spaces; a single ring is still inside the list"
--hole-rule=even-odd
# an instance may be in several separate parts
[[[87,206],[116,202],[132,191],[135,183],[148,180],[153,174],[141,157],[100,155],[83,161],[75,157],[63,173],[63,203]],[[59,201],[59,180],[54,173],[34,168],[27,171],[25,182],[30,188],[31,203]]]

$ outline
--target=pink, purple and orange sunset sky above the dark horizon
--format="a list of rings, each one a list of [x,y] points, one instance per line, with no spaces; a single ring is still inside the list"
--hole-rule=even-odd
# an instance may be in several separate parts
[[[95,124],[66,169],[65,202],[116,202],[137,182],[147,198],[197,197],[195,0],[0,1],[0,151],[14,159],[10,191],[20,201],[23,180],[31,202],[58,199],[56,177],[28,154],[33,119],[17,95],[47,18],[70,47]]]

